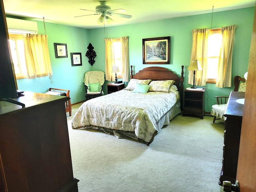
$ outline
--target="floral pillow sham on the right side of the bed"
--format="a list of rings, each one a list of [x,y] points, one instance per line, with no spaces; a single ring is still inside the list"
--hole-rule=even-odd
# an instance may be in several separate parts
[[[162,81],[152,81],[150,82],[149,91],[152,92],[169,92],[170,86],[175,83],[174,80],[162,80]]]

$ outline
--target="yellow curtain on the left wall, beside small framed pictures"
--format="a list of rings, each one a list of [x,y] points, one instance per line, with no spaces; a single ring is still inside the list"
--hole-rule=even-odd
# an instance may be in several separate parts
[[[47,35],[24,34],[25,59],[28,78],[49,76],[52,82],[52,66]]]

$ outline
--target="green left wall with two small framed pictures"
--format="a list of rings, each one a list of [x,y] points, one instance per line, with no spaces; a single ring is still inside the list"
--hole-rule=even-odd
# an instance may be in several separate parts
[[[53,83],[49,77],[18,79],[18,89],[38,93],[47,92],[48,88],[70,90],[71,103],[84,100],[84,72],[92,70],[85,56],[89,44],[89,30],[65,25],[46,23],[48,48],[52,64]],[[43,22],[38,22],[38,34],[45,34]],[[54,43],[66,43],[68,58],[55,58]],[[72,52],[82,53],[82,66],[71,66]]]

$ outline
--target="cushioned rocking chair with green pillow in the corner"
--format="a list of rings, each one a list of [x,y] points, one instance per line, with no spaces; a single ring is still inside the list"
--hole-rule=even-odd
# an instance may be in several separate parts
[[[105,73],[102,71],[88,71],[84,74],[86,100],[104,95],[102,91]]]

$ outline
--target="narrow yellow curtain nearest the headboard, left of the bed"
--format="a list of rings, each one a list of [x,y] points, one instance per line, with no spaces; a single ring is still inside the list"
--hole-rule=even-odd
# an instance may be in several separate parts
[[[122,43],[122,81],[129,81],[129,57],[128,57],[128,36],[120,38]]]

